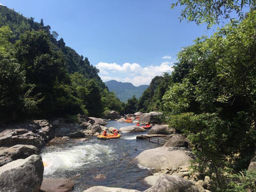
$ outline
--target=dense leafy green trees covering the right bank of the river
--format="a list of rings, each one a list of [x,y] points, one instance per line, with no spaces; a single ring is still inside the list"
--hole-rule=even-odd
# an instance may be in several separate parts
[[[255,28],[252,8],[240,23],[197,38],[179,52],[172,74],[156,76],[138,101],[137,110],[164,112],[190,140],[194,170],[212,176],[212,191],[254,188],[254,173],[245,170],[256,141]]]

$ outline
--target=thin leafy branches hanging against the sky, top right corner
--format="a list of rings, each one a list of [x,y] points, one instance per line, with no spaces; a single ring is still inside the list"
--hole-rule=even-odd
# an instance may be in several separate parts
[[[241,0],[241,1],[190,1],[178,0],[171,5],[174,9],[177,5],[184,7],[180,13],[180,21],[184,18],[189,21],[195,21],[197,25],[207,23],[207,28],[211,28],[214,24],[219,24],[225,19],[230,18],[232,12],[236,12],[239,20],[244,19],[244,12],[242,9],[246,6],[255,5],[255,0]],[[231,22],[235,22],[234,18],[230,18]]]

